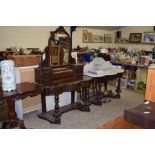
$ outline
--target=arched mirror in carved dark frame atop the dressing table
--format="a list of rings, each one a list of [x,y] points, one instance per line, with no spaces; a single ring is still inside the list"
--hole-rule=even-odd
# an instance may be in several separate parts
[[[68,65],[71,59],[70,36],[63,26],[50,32],[45,60],[41,66],[54,67]]]

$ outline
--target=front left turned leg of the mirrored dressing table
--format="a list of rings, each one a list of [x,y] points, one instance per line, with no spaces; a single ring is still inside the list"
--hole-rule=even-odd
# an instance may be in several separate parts
[[[55,109],[54,109],[54,113],[53,116],[55,117],[55,123],[56,124],[60,124],[61,123],[61,113],[60,113],[60,108],[59,108],[59,95],[55,95]]]

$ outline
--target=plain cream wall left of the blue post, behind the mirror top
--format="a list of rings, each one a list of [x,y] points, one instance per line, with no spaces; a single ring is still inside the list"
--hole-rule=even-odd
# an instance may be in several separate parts
[[[0,26],[0,51],[10,47],[40,48],[48,45],[50,31],[56,26]],[[65,27],[69,32],[69,27]]]

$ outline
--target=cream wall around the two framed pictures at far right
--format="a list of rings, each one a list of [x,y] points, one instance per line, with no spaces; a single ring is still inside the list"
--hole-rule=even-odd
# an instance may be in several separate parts
[[[130,33],[143,33],[143,32],[154,32],[153,26],[127,26],[122,29],[121,31],[121,38],[129,38]],[[116,31],[113,31],[115,34]],[[154,45],[148,45],[148,44],[114,44],[115,47],[131,47],[132,49],[138,50],[146,50],[146,51],[152,51],[152,48]]]

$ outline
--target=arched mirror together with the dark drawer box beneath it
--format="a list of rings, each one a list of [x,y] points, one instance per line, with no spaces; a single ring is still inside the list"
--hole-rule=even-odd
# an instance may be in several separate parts
[[[50,32],[45,59],[35,69],[35,81],[55,85],[83,79],[83,64],[73,64],[70,36],[63,26]]]

